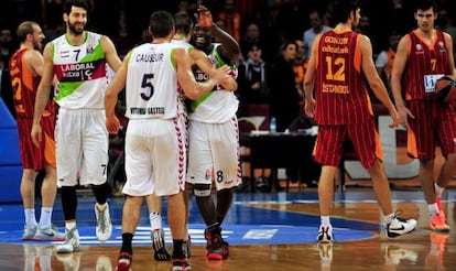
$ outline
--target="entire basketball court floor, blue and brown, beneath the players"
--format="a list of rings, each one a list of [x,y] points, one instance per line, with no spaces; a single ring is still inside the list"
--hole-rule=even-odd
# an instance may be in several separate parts
[[[56,254],[57,242],[22,241],[21,204],[0,205],[0,270],[115,270],[121,245],[123,198],[109,199],[115,230],[109,241],[100,243],[95,235],[95,199],[89,195],[79,196],[82,251],[70,254]],[[456,270],[456,191],[448,189],[443,198],[449,234],[430,230],[427,207],[419,188],[393,189],[392,197],[402,217],[419,220],[412,234],[384,237],[371,188],[348,187],[334,198],[335,242],[318,246],[316,189],[238,193],[222,228],[230,243],[230,258],[225,261],[205,260],[204,225],[191,198],[192,270]],[[53,220],[63,230],[59,202],[57,198]],[[149,232],[144,204],[133,239],[132,270],[171,270],[170,262],[153,260]],[[165,239],[171,250],[166,223]]]

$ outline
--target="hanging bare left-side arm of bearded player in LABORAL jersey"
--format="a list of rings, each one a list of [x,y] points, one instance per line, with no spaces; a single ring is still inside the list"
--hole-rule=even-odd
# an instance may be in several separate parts
[[[54,64],[53,64],[53,51],[54,44],[47,43],[43,52],[43,72],[39,88],[36,90],[35,108],[33,112],[33,126],[32,126],[32,141],[35,145],[40,145],[42,141],[42,131],[41,131],[41,117],[43,116],[44,108],[47,104],[51,86],[54,78]]]

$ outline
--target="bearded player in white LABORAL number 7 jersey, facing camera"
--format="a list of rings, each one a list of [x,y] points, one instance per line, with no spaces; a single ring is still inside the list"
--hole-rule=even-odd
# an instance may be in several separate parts
[[[67,0],[63,19],[66,33],[46,44],[44,69],[35,101],[32,140],[42,140],[40,119],[54,76],[59,106],[56,123],[57,186],[61,188],[66,239],[57,253],[79,250],[76,227],[76,186],[90,185],[96,197],[95,214],[98,240],[106,241],[112,232],[107,203],[108,132],[105,119],[105,91],[108,85],[107,64],[117,71],[121,61],[112,41],[85,31],[87,2]]]

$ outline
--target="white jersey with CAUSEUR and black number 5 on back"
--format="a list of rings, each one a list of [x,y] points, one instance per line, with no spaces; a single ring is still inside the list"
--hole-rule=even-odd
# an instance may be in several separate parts
[[[132,50],[126,86],[128,118],[172,119],[182,113],[174,48],[171,43],[146,43]]]

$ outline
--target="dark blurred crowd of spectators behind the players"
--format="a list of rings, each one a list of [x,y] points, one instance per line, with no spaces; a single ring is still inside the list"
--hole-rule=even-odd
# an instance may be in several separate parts
[[[196,1],[87,0],[90,7],[88,29],[109,35],[120,55],[148,41],[148,14],[164,9],[194,13]],[[363,13],[357,31],[371,39],[373,56],[387,86],[391,61],[400,36],[415,28],[413,0],[361,1]],[[302,80],[310,47],[316,34],[332,23],[332,0],[205,0],[214,21],[239,42],[239,116],[249,115],[248,105],[270,104],[271,115],[283,121],[300,115]],[[438,1],[436,26],[456,39],[456,2]],[[0,11],[0,76],[18,47],[15,28],[22,20],[39,22],[46,41],[64,33],[63,0],[3,0]],[[456,46],[454,46],[456,47]],[[6,75],[4,77],[7,77]],[[0,77],[1,78],[1,77]],[[9,78],[8,78],[9,79]],[[4,79],[2,79],[4,82]],[[7,86],[4,86],[7,85]],[[8,88],[3,84],[1,88]],[[1,89],[0,89],[1,90]],[[2,91],[4,94],[4,91]],[[2,96],[3,96],[2,94]],[[9,97],[4,97],[9,100]],[[278,123],[286,128],[286,123]]]

